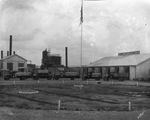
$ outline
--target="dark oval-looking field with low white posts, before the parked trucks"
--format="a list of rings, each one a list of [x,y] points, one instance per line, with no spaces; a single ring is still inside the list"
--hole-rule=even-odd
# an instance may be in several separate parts
[[[38,91],[36,94],[20,94]],[[13,84],[0,86],[0,106],[72,111],[128,111],[150,108],[150,87],[118,84]]]

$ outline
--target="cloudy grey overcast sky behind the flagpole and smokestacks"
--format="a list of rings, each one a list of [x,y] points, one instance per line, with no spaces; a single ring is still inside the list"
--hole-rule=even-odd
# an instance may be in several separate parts
[[[80,65],[81,0],[0,0],[0,50],[13,51],[41,65],[42,51],[62,56],[68,47],[69,65]],[[83,64],[118,52],[150,52],[150,1],[84,1]]]

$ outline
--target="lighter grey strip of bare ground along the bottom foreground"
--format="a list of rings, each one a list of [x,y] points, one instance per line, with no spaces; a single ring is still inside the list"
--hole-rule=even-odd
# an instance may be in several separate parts
[[[24,110],[0,107],[0,120],[149,120],[150,110],[116,111],[55,111]]]

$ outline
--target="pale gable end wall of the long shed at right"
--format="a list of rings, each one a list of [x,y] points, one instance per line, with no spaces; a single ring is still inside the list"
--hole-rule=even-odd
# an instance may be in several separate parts
[[[137,66],[137,68],[136,68],[137,78],[148,79],[149,75],[150,75],[149,70],[150,70],[150,59],[148,59],[147,61],[145,61]]]

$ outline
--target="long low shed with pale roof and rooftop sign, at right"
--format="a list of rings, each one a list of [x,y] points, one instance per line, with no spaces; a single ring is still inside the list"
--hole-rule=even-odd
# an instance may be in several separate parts
[[[109,74],[118,77],[123,74],[126,79],[148,80],[150,76],[150,53],[139,51],[119,53],[118,56],[104,57],[88,65],[89,71],[100,72],[102,77]]]

